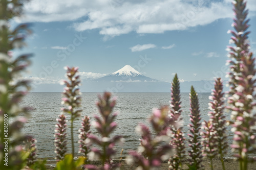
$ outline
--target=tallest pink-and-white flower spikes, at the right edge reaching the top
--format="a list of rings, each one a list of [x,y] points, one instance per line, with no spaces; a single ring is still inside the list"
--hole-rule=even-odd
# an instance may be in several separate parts
[[[249,162],[255,161],[250,158],[249,154],[255,152],[255,114],[253,108],[256,103],[255,94],[255,63],[253,54],[249,52],[248,34],[246,32],[249,25],[249,19],[246,19],[248,10],[246,2],[243,0],[233,1],[233,11],[236,16],[233,20],[232,26],[235,31],[228,31],[232,34],[230,43],[235,46],[228,46],[227,50],[230,51],[229,57],[231,60],[227,61],[230,64],[231,72],[228,74],[229,80],[229,98],[228,109],[231,110],[232,124],[231,131],[234,132],[233,144],[231,147],[236,152],[236,157],[239,160],[240,169],[247,169]]]

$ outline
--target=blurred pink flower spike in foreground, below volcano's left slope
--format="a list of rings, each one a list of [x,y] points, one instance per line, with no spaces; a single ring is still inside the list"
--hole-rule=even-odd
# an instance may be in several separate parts
[[[98,133],[101,135],[100,138],[90,134],[86,139],[86,144],[95,143],[101,147],[102,151],[97,148],[92,148],[89,153],[89,159],[100,159],[102,161],[102,167],[100,169],[115,169],[120,164],[114,164],[112,159],[115,156],[116,151],[114,150],[115,143],[123,141],[121,136],[110,137],[110,134],[117,128],[117,124],[114,119],[117,113],[111,114],[114,106],[116,105],[116,99],[111,100],[111,93],[105,92],[103,96],[99,96],[99,102],[97,106],[101,115],[101,118],[94,116],[96,121],[93,126],[96,128]],[[98,169],[96,166],[88,164],[84,166],[86,169]]]

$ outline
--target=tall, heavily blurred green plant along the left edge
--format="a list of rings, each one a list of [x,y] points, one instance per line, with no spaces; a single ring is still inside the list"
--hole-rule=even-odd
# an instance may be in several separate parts
[[[27,24],[18,25],[14,30],[9,25],[13,17],[22,14],[24,2],[0,1],[0,169],[22,169],[27,158],[32,156],[31,150],[26,151],[22,146],[28,136],[20,133],[27,120],[16,118],[27,116],[30,110],[20,107],[19,102],[30,89],[29,82],[22,79],[21,74],[30,65],[31,54],[12,58],[12,50],[26,45],[24,40],[31,30]]]

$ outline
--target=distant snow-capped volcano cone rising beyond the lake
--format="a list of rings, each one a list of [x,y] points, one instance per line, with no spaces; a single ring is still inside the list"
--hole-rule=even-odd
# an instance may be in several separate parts
[[[97,81],[121,81],[121,82],[158,82],[156,79],[151,79],[141,74],[131,65],[125,65],[121,69],[113,72],[110,75],[96,79]]]

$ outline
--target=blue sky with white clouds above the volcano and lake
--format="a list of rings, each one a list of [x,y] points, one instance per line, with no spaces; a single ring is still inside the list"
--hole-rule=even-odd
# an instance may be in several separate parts
[[[256,3],[248,0],[251,50],[256,52]],[[232,29],[231,1],[216,0],[32,0],[23,18],[31,22],[33,53],[25,75],[40,83],[63,79],[63,67],[79,66],[82,78],[99,78],[126,64],[147,77],[170,82],[225,77]]]

